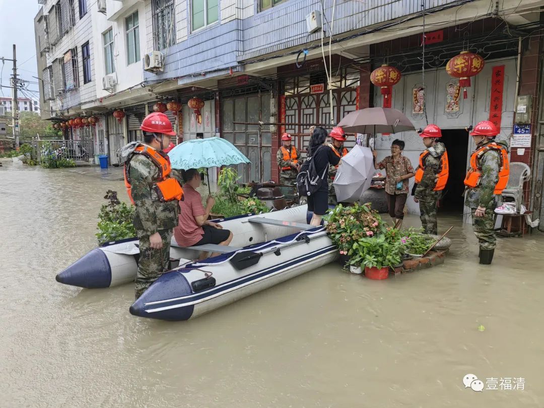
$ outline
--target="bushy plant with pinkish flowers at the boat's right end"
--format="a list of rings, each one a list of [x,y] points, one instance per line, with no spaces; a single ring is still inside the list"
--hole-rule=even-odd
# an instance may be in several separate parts
[[[353,244],[361,238],[374,237],[385,230],[380,215],[370,209],[370,203],[344,207],[341,204],[325,215],[326,229],[340,254],[349,255]]]

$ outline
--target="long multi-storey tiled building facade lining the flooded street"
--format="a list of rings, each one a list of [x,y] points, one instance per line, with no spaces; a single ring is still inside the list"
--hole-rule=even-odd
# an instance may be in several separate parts
[[[324,8],[310,0],[105,0],[89,4],[88,16],[79,19],[85,0],[47,0],[47,13],[40,11],[36,21],[51,21],[59,7],[62,17],[65,3],[74,10],[72,26],[66,28],[61,20],[60,32],[68,34],[52,46],[47,33],[54,23],[44,26],[45,34],[36,31],[50,42],[44,79],[52,81],[43,81],[49,88],[42,93],[48,96],[44,99],[54,120],[100,116],[91,137],[97,143],[102,140],[112,162],[119,147],[140,137],[138,123],[157,102],[175,100],[182,103],[181,113],[166,113],[175,123],[178,141],[198,133],[226,138],[251,160],[239,166],[243,181],[277,181],[278,135],[293,134],[304,151],[310,126],[331,127],[352,110],[382,106],[370,72],[385,63],[401,72],[387,106],[404,112],[416,128],[436,123],[444,131],[453,162],[445,202],[452,212],[466,212],[459,197],[474,146],[464,129],[498,115],[500,138],[516,139],[511,161],[533,171],[524,184],[526,205],[544,219],[544,108],[539,98],[543,31],[538,0],[351,0],[325,3]],[[81,47],[86,42],[89,88],[82,87]],[[64,71],[56,76],[53,68],[55,60],[66,64],[65,55],[74,47],[80,48],[69,57],[77,59],[78,75],[74,71],[73,77],[79,82],[68,89],[70,65],[62,65]],[[461,51],[485,60],[466,99],[458,80],[444,69]],[[43,58],[39,53],[39,64],[44,65]],[[500,95],[493,86],[497,73]],[[195,97],[204,103],[200,114],[187,106]],[[492,103],[497,98],[500,103]],[[113,118],[114,109],[125,113],[120,121]],[[514,133],[519,129],[532,135],[522,147]],[[416,132],[376,135],[379,158],[394,138],[405,141],[405,154],[416,164],[423,150]],[[347,145],[353,144],[352,137]],[[417,211],[411,199],[408,208]]]

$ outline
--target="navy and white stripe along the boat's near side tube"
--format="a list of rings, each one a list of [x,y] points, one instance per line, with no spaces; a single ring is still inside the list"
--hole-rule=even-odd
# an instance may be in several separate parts
[[[247,276],[243,276],[236,281],[230,281],[225,282],[222,286],[215,287],[211,290],[207,290],[206,292],[202,293],[194,293],[188,296],[181,296],[180,298],[175,299],[168,299],[168,300],[160,300],[156,302],[149,302],[144,305],[145,306],[152,306],[152,305],[158,305],[158,304],[164,304],[169,302],[176,302],[179,300],[184,301],[182,304],[176,304],[173,305],[166,305],[166,306],[159,306],[157,308],[153,308],[150,310],[146,310],[147,313],[153,313],[153,312],[159,312],[163,310],[168,310],[172,308],[178,308],[178,307],[184,307],[184,306],[190,306],[197,303],[201,303],[203,301],[206,301],[208,299],[216,298],[217,296],[225,293],[225,292],[232,292],[232,290],[239,289],[240,287],[244,287],[247,285],[250,285],[251,283],[257,282],[261,279],[264,279],[265,277],[275,275],[277,273],[280,273],[281,271],[293,267],[296,264],[301,264],[303,261],[306,261],[308,258],[315,258],[317,256],[322,255],[328,255],[333,252],[336,252],[338,249],[335,245],[326,246],[323,249],[320,249],[318,251],[310,252],[310,254],[306,254],[303,256],[300,256],[298,258],[294,258],[289,262],[282,263],[281,265],[276,265],[274,267],[269,267],[266,269],[262,269],[260,271],[256,271],[255,273]],[[189,301],[188,301],[189,300]]]

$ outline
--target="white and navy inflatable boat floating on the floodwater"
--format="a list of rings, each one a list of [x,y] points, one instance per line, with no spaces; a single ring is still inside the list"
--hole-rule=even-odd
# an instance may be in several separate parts
[[[265,214],[242,215],[230,219],[216,220],[216,222],[221,224],[223,228],[232,231],[233,239],[229,246],[208,244],[181,248],[177,245],[174,238],[172,238],[170,258],[172,259],[172,266],[178,265],[178,268],[172,269],[176,270],[176,274],[181,274],[180,276],[183,277],[185,285],[190,287],[191,290],[193,290],[192,288],[195,286],[197,288],[195,293],[198,293],[199,295],[204,293],[202,292],[204,289],[201,288],[201,286],[211,285],[211,281],[194,283],[194,281],[202,279],[202,273],[195,269],[195,265],[206,264],[206,268],[203,269],[211,269],[211,276],[213,276],[213,279],[215,280],[213,289],[217,290],[219,287],[223,286],[224,283],[262,271],[263,265],[265,265],[266,268],[273,269],[282,268],[283,264],[291,265],[289,268],[295,269],[292,273],[280,274],[280,276],[288,276],[285,278],[288,279],[290,276],[303,273],[316,267],[316,265],[323,265],[326,262],[332,261],[337,254],[337,251],[334,250],[332,242],[326,236],[323,228],[312,228],[307,224],[306,205],[286,208]],[[318,251],[324,248],[330,249],[330,254],[326,251],[327,256],[323,256],[323,254]],[[191,259],[197,259],[201,251],[219,252],[222,255],[215,258],[208,258],[201,263],[191,261]],[[302,253],[299,253],[300,251],[302,251]],[[272,256],[269,256],[270,252],[273,254]],[[249,256],[248,254],[250,253],[259,255]],[[308,254],[314,254],[313,256],[317,257],[319,261],[317,263],[314,262],[314,259],[311,259],[312,256],[308,257]],[[251,262],[254,262],[254,259],[258,257],[258,262],[256,262],[255,265],[241,268],[243,262],[239,259],[244,258],[244,256],[246,258],[252,257]],[[122,285],[123,283],[133,282],[138,270],[138,257],[139,249],[137,238],[108,243],[91,250],[82,258],[78,259],[78,261],[61,271],[57,275],[57,281],[64,283],[65,285],[83,288],[108,288]],[[299,259],[300,262],[292,262],[293,259],[298,259],[300,257],[302,257]],[[247,263],[249,264],[251,262],[248,261]],[[200,269],[200,267],[198,268]],[[299,272],[300,268],[303,270]],[[171,279],[171,277],[169,279]],[[280,281],[281,280],[277,280],[277,278],[274,280],[275,283]],[[259,287],[257,290],[261,290],[265,287],[274,285],[275,283],[266,286],[259,283],[254,287]],[[147,292],[149,292],[149,290]],[[157,286],[155,286],[152,292],[155,293],[155,295],[152,296],[150,294],[149,296],[145,296],[145,299],[152,298],[152,302],[154,302],[168,298],[167,295],[162,294],[159,295],[159,297],[164,295],[165,299],[157,299],[157,292],[162,292],[162,289],[159,290],[157,289]],[[167,292],[171,293],[170,291]],[[183,296],[193,295],[193,293],[185,293],[185,289],[180,293],[182,292]],[[207,292],[208,290],[206,290],[206,293]],[[233,291],[230,290],[230,292]],[[236,292],[236,290],[234,292]],[[241,292],[239,291],[236,293],[240,294],[246,292],[246,290],[242,290]],[[244,294],[244,296],[246,294]],[[232,295],[230,295],[229,298],[230,297],[232,297]],[[144,298],[144,296],[140,299],[142,298]],[[203,301],[199,302],[199,304],[202,303]],[[212,302],[212,304],[215,303],[217,303],[217,301]],[[146,310],[143,314],[145,314],[146,317],[151,317],[147,312],[147,306],[140,307],[141,302],[137,302],[137,304],[135,304],[135,306],[133,305],[131,308],[133,314],[141,316],[142,314],[140,314],[140,311]],[[163,305],[161,307],[166,306]],[[201,307],[197,307],[196,310],[201,310]],[[194,317],[193,314],[194,313],[191,312],[189,317]],[[186,315],[187,313],[184,312],[183,316]],[[156,316],[162,316],[162,314],[159,313],[156,314]]]

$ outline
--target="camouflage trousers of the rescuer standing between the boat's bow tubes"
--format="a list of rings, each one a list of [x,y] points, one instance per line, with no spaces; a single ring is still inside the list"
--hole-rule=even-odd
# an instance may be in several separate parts
[[[136,299],[151,286],[151,283],[168,270],[172,230],[160,230],[159,234],[163,239],[163,248],[161,249],[152,249],[149,237],[140,238],[140,259],[134,286]]]

